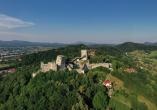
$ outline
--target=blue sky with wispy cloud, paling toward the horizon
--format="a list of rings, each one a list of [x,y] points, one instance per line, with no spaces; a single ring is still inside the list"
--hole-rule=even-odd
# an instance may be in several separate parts
[[[0,40],[157,42],[157,0],[0,0]]]

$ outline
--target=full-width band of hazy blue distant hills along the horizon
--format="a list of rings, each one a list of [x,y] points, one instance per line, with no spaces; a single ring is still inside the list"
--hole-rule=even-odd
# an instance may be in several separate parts
[[[96,43],[86,43],[81,42],[80,43],[73,43],[70,44],[63,44],[63,43],[44,43],[44,42],[29,42],[29,41],[19,41],[19,40],[13,40],[13,41],[1,41],[0,40],[0,47],[27,47],[27,46],[42,46],[42,47],[53,47],[53,48],[71,48],[72,46],[78,47],[80,45],[84,45],[86,47],[103,47],[106,49],[118,49],[122,51],[134,51],[134,50],[156,50],[157,45],[156,43],[133,43],[133,42],[126,42],[123,44],[96,44]]]

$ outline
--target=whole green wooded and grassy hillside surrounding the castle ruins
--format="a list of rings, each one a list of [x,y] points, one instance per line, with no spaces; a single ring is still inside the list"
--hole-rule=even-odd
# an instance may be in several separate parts
[[[32,78],[41,61],[53,61],[59,54],[72,59],[81,49],[96,50],[90,62],[112,63],[113,71],[103,67],[86,74],[49,71]],[[16,73],[0,78],[0,110],[157,110],[155,49],[135,43],[71,45],[23,56]],[[113,83],[111,98],[102,84],[106,79]]]

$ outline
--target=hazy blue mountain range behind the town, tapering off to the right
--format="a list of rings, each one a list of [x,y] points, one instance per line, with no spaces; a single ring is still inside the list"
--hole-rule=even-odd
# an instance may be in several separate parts
[[[62,43],[41,43],[41,42],[28,42],[28,41],[1,41],[0,47],[28,47],[28,46],[43,46],[43,47],[63,47]]]

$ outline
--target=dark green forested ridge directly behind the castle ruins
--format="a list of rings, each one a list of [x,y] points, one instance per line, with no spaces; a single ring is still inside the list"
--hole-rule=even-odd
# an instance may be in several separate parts
[[[74,58],[80,56],[81,49],[96,49],[96,56],[123,56],[125,52],[131,52],[135,50],[144,50],[146,52],[157,50],[157,46],[144,45],[138,43],[123,43],[119,45],[95,45],[86,46],[84,44],[80,45],[68,45],[58,49],[52,49],[44,52],[34,53],[30,55],[23,56],[24,65],[39,64],[41,61],[48,62],[55,60],[57,55],[65,55],[67,58]],[[99,59],[99,58],[98,58]],[[101,59],[102,60],[102,59]]]

